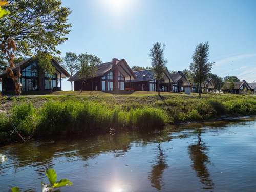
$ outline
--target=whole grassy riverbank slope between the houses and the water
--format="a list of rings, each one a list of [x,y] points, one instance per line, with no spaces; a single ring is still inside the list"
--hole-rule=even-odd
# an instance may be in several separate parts
[[[240,95],[45,95],[0,102],[0,144],[21,141],[17,132],[29,139],[256,115],[256,97]]]

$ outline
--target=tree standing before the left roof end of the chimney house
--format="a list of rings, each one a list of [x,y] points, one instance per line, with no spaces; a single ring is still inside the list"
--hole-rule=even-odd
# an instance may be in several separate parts
[[[86,80],[88,78],[92,78],[92,90],[93,90],[93,79],[98,70],[97,65],[101,63],[101,60],[95,55],[82,53],[78,56],[78,61],[79,61],[79,77],[82,80],[81,92],[83,89],[83,84],[86,83]]]

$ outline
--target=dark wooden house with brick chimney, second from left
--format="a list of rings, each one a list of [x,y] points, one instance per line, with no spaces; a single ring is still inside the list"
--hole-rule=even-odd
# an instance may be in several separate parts
[[[106,92],[131,90],[131,82],[136,76],[124,59],[112,59],[112,62],[97,65],[97,68],[94,78],[81,79],[79,72],[72,76],[68,81],[74,81],[74,90]]]

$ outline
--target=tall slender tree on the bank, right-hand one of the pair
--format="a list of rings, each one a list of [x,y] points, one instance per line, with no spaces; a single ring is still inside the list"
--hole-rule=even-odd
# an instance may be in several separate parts
[[[193,63],[190,64],[190,70],[193,73],[193,81],[199,86],[199,97],[201,97],[201,84],[206,81],[214,62],[208,62],[209,59],[208,42],[197,45],[193,54]]]

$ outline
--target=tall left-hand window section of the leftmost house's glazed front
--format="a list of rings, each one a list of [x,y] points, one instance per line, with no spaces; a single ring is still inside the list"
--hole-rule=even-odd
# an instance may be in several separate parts
[[[36,62],[22,70],[22,91],[36,91],[38,90],[38,66]]]

